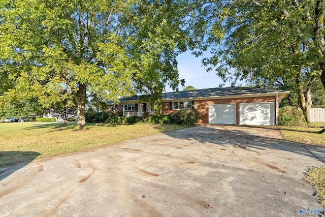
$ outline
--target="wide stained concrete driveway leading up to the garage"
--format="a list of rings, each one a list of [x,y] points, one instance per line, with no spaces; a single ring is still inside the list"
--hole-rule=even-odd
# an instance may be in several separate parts
[[[0,168],[0,216],[320,216],[302,179],[324,161],[277,130],[187,128]]]

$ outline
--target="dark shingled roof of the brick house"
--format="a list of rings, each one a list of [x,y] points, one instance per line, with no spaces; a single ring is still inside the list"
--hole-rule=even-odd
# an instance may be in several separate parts
[[[163,100],[178,100],[178,99],[198,99],[210,97],[231,97],[238,95],[276,95],[279,94],[279,99],[282,100],[289,91],[253,87],[216,87],[207,89],[186,90],[179,92],[164,92]],[[121,98],[120,101],[138,100],[140,96],[129,98]],[[110,102],[108,102],[110,103]]]

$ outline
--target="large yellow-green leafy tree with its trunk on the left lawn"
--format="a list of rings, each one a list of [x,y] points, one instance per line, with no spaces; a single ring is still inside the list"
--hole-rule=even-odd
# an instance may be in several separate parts
[[[162,92],[166,83],[177,89],[186,4],[1,1],[0,63],[14,81],[5,98],[36,97],[44,107],[74,98],[83,128],[88,95],[117,102],[137,90]]]

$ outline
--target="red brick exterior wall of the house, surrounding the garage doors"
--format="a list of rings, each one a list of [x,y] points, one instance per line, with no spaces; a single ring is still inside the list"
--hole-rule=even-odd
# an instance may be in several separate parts
[[[214,100],[196,100],[194,102],[194,108],[201,112],[200,123],[209,123],[209,105],[210,104],[236,104],[236,125],[239,125],[239,104],[240,103],[266,103],[274,102],[274,111],[278,111],[278,105],[276,103],[276,96],[268,97],[247,97],[247,98],[234,98],[234,99],[214,99]],[[175,114],[178,110],[170,110],[170,102],[163,102],[162,113],[163,114]],[[276,123],[277,112],[274,112],[274,122]]]

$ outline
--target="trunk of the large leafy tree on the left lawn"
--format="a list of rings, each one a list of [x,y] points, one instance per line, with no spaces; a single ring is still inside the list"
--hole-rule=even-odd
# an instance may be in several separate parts
[[[77,123],[80,130],[86,125],[86,87],[86,84],[80,84],[74,94],[78,106]]]

